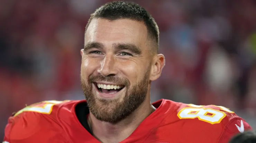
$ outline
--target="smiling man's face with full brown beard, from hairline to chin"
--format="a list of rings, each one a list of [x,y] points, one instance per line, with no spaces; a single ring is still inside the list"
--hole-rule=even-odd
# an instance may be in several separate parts
[[[145,100],[151,69],[148,45],[142,22],[91,21],[81,51],[81,84],[95,118],[120,121]]]

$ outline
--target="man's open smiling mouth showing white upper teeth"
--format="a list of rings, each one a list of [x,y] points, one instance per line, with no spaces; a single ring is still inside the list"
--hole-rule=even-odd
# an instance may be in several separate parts
[[[125,87],[124,85],[109,85],[100,83],[94,83],[94,85],[97,87],[100,93],[104,94],[116,94]]]

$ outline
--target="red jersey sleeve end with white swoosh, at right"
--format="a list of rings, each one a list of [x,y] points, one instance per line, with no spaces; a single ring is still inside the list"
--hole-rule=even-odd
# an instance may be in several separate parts
[[[244,119],[240,117],[234,118],[230,120],[226,125],[220,137],[219,143],[228,143],[233,136],[237,135],[238,133],[243,133],[247,130],[253,129],[247,122],[245,122]]]

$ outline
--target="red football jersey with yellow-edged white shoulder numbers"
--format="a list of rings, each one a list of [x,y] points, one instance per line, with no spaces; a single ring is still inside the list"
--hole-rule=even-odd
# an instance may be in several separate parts
[[[20,110],[8,120],[4,143],[100,143],[77,118],[75,108],[81,103],[86,101],[44,101]],[[156,110],[121,143],[227,143],[233,135],[252,130],[221,106],[165,99],[153,106]]]

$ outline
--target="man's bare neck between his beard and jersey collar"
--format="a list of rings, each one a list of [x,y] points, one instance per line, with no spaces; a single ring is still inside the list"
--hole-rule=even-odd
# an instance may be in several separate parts
[[[93,136],[102,143],[119,143],[125,140],[148,115],[155,111],[149,96],[147,97],[139,108],[118,123],[99,121],[90,113],[88,124]]]

